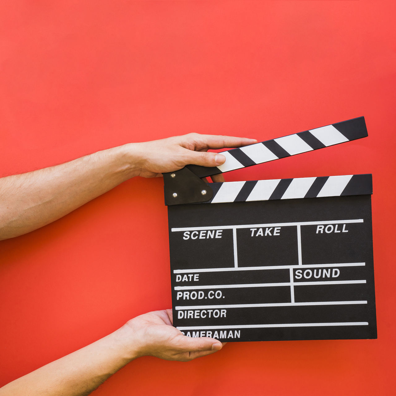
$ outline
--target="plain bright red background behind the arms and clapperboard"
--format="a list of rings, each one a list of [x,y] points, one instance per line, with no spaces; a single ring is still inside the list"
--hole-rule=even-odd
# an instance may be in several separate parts
[[[227,181],[373,173],[378,340],[152,357],[95,395],[394,394],[392,1],[2,1],[0,169],[188,132],[259,141],[364,115],[366,139]],[[171,307],[162,179],[135,178],[0,243],[0,385]]]

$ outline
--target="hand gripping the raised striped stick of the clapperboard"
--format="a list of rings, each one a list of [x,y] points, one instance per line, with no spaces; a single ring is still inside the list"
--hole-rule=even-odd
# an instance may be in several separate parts
[[[209,149],[240,147],[257,143],[243,137],[200,135],[189,133],[167,139],[127,145],[134,155],[138,175],[157,177],[188,164],[214,167],[224,164],[225,156]]]

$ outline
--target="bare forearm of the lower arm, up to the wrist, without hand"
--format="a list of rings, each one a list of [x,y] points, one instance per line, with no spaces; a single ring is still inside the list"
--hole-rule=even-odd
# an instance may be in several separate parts
[[[133,346],[126,348],[125,333],[125,327],[121,327],[93,344],[16,379],[0,389],[0,396],[90,394],[137,357]]]

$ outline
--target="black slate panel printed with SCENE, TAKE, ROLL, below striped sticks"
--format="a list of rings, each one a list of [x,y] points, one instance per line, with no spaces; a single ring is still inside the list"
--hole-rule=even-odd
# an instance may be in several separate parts
[[[185,335],[377,337],[371,195],[175,205],[168,220]]]

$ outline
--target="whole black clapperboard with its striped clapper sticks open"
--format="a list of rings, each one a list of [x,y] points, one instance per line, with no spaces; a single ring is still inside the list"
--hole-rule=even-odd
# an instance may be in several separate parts
[[[200,179],[366,136],[360,117],[164,174],[173,325],[220,341],[377,338],[371,175]]]

